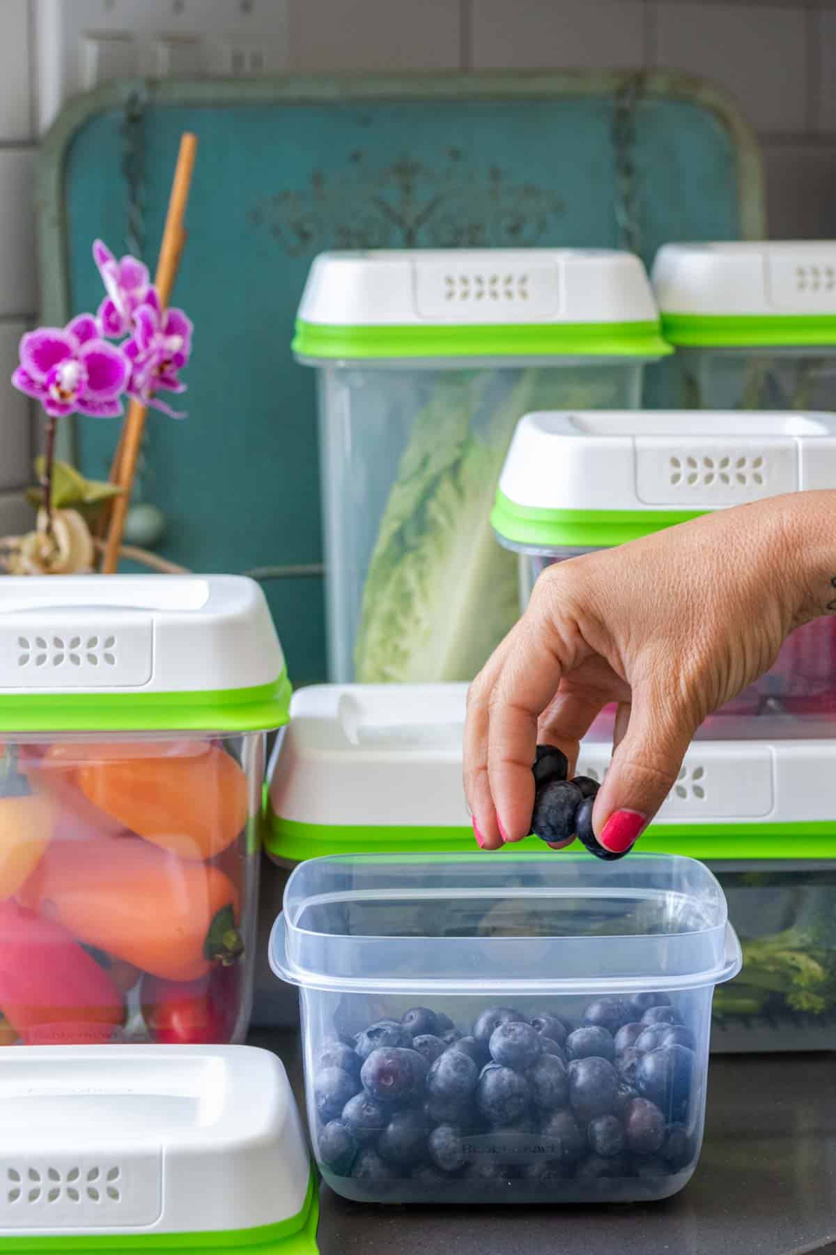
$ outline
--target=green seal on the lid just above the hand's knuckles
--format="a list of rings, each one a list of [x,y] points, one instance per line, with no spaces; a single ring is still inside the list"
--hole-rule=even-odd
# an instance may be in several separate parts
[[[627,541],[687,523],[704,510],[544,510],[520,506],[496,491],[490,521],[501,543],[513,548],[613,548]]]

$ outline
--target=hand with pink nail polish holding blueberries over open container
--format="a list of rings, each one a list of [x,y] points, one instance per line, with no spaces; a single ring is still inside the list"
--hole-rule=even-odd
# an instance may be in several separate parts
[[[836,610],[836,492],[717,511],[558,562],[476,676],[464,781],[483,850],[530,831],[531,763],[618,704],[593,826],[630,848],[674,784],[703,719],[772,666],[793,628]],[[565,842],[564,842],[565,843]]]

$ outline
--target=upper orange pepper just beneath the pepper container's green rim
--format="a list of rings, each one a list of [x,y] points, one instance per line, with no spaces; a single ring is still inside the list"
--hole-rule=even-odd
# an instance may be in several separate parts
[[[180,858],[214,858],[247,823],[247,777],[206,740],[58,742],[44,767],[61,766],[100,811]]]

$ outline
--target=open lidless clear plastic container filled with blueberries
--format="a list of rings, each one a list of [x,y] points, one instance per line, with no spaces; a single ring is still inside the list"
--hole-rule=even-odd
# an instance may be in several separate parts
[[[338,1194],[629,1202],[691,1177],[712,994],[741,961],[701,863],[313,860],[271,961],[301,988],[313,1151]]]

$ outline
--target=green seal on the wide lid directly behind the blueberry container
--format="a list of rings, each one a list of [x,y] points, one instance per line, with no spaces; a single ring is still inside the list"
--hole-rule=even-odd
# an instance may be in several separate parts
[[[301,823],[271,814],[264,846],[280,862],[300,863],[326,855],[460,853],[476,850],[470,827],[340,826]],[[582,853],[574,845],[573,852]],[[836,822],[811,823],[652,823],[639,840],[642,853],[709,860],[825,860],[833,857]],[[536,837],[501,846],[515,855],[543,855]],[[590,855],[590,858],[594,857]]]

